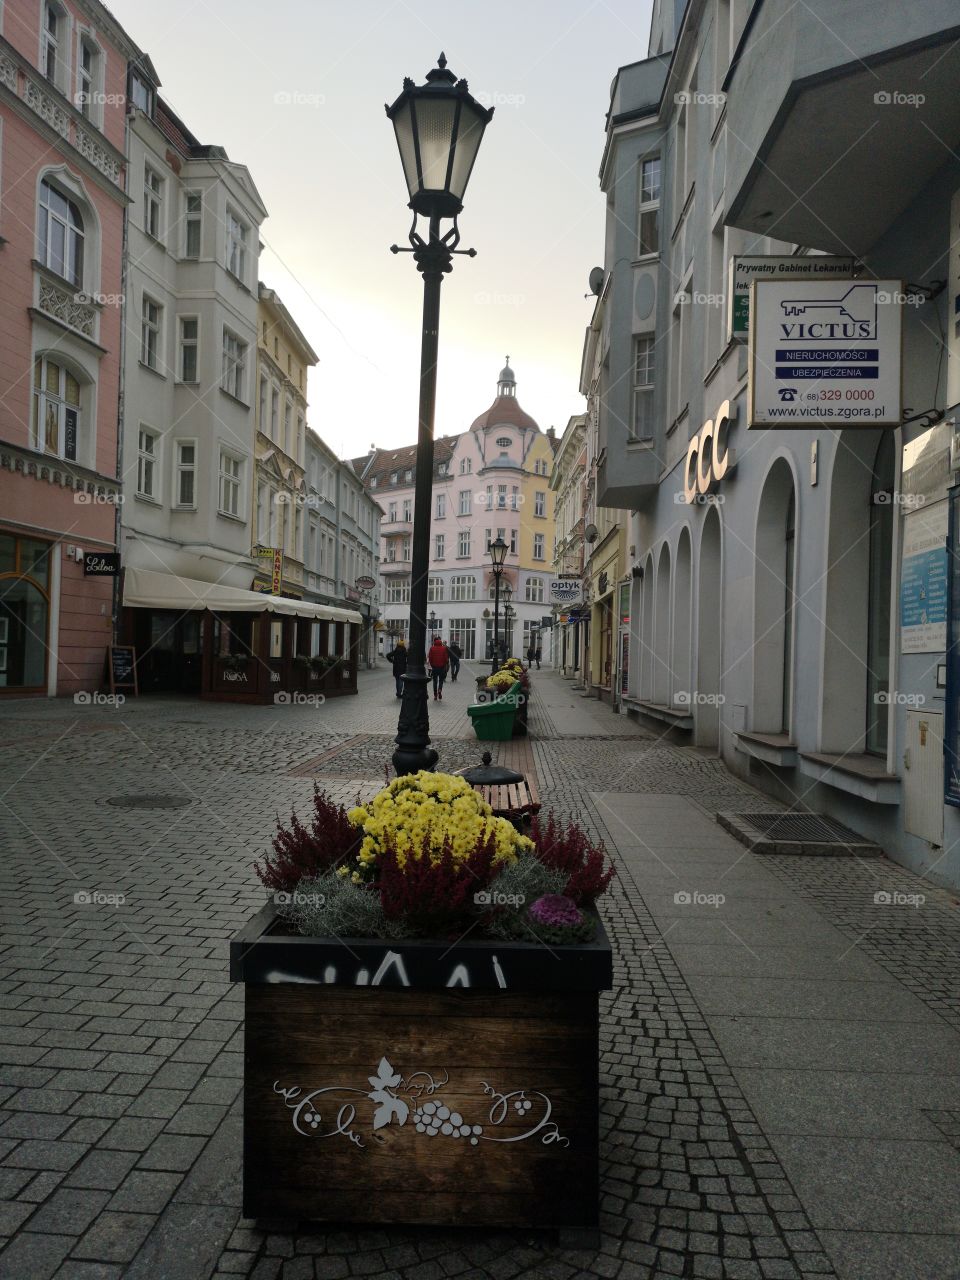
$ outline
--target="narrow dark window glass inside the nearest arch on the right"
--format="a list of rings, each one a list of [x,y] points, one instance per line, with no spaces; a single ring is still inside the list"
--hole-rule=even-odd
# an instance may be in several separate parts
[[[893,556],[893,433],[881,436],[870,481],[870,550],[867,604],[867,750],[887,754],[890,694],[890,577]]]

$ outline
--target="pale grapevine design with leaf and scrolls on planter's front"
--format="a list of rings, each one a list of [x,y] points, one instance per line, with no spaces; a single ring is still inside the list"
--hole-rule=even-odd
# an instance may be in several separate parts
[[[429,1138],[462,1138],[471,1147],[481,1142],[524,1142],[527,1138],[539,1138],[544,1146],[554,1142],[563,1147],[570,1146],[570,1138],[564,1138],[556,1121],[550,1120],[553,1103],[539,1089],[499,1093],[493,1085],[481,1080],[484,1094],[492,1101],[484,1124],[474,1124],[460,1111],[447,1106],[438,1096],[438,1091],[449,1084],[445,1070],[442,1080],[435,1080],[429,1071],[413,1071],[404,1076],[394,1071],[388,1059],[381,1057],[376,1075],[367,1076],[367,1080],[372,1087],[370,1089],[332,1084],[326,1088],[310,1089],[307,1093],[298,1084],[282,1088],[280,1082],[275,1080],[274,1093],[279,1093],[291,1108],[293,1128],[305,1138],[339,1135],[357,1147],[365,1147],[361,1135],[365,1125],[362,1120],[357,1121],[357,1108],[362,1098],[374,1105],[370,1121],[374,1137],[379,1129],[394,1124],[401,1128],[410,1120],[417,1133]],[[495,1130],[508,1117],[515,1121],[522,1120],[524,1130],[509,1135],[489,1132]]]

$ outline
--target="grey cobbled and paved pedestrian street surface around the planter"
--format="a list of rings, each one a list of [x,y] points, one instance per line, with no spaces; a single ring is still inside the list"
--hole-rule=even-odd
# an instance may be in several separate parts
[[[430,704],[442,767],[479,759],[477,669]],[[315,778],[381,785],[381,667],[320,708],[0,704],[0,1280],[960,1276],[955,896],[886,859],[751,854],[713,815],[778,805],[535,680],[544,804],[618,869],[599,1249],[241,1217],[227,941],[275,814]],[[74,902],[97,890],[123,902]]]

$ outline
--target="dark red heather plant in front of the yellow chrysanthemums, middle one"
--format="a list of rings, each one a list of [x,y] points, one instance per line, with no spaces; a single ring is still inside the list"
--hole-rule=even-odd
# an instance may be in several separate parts
[[[401,867],[388,845],[378,859],[384,915],[402,920],[412,937],[456,936],[476,919],[475,895],[493,879],[495,855],[494,840],[479,840],[466,858],[454,859],[449,844],[438,858],[425,838],[420,856],[406,854]]]

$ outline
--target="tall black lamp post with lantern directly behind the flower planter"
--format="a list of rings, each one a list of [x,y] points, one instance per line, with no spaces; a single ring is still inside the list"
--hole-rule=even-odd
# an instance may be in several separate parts
[[[436,751],[430,746],[430,717],[426,686],[426,598],[430,570],[430,512],[434,477],[434,410],[436,404],[436,353],[440,324],[440,284],[453,270],[453,255],[476,250],[457,248],[457,218],[474,169],[484,129],[493,109],[471,97],[467,82],[447,70],[440,54],[438,65],[426,73],[425,84],[403,81],[403,92],[387,108],[399,147],[403,177],[413,211],[410,248],[392,244],[393,253],[412,253],[424,276],[424,324],[420,347],[420,419],[417,431],[416,484],[413,489],[413,549],[410,589],[410,655],[403,678],[403,700],[397,724],[393,767],[398,774],[433,769]],[[428,236],[417,232],[417,218],[428,219]],[[442,234],[442,223],[452,225]]]

